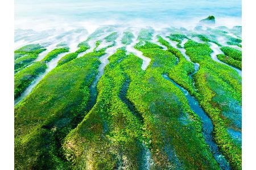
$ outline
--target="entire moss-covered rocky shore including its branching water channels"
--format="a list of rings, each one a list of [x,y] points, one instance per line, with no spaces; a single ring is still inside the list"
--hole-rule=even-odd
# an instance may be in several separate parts
[[[16,49],[15,169],[241,169],[240,31],[106,26]]]

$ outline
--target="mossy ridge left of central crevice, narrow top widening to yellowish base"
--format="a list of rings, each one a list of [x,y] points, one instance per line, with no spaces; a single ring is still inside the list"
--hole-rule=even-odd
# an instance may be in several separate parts
[[[125,53],[119,49],[109,57],[110,63],[97,85],[96,104],[65,139],[65,152],[74,163],[73,169],[114,169],[123,164],[122,159],[129,162],[125,163],[126,168],[138,169],[141,125],[118,97],[125,80],[121,67]]]

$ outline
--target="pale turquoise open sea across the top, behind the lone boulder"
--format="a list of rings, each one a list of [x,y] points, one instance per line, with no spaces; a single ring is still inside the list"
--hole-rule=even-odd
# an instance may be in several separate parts
[[[185,26],[209,15],[216,16],[220,25],[241,25],[241,0],[15,1],[15,28],[31,28],[38,24],[57,26],[56,23],[66,27],[81,23]]]

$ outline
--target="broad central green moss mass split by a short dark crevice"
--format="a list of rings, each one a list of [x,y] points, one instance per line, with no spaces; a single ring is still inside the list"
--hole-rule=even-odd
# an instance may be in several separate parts
[[[141,59],[133,54],[126,56],[123,49],[110,56],[110,63],[97,86],[96,105],[65,139],[65,152],[75,165],[74,169],[114,169],[120,166],[138,169],[141,164],[139,157],[142,159],[145,155],[139,154],[143,147],[135,141],[143,141],[150,147],[153,169],[218,169],[200,133],[199,118],[189,109],[179,88],[162,78],[162,73],[175,66],[176,57],[151,42],[135,48],[151,58],[146,73],[141,70]],[[127,98],[143,117],[143,123],[118,97],[126,75],[130,79]],[[181,115],[188,119],[188,124],[179,121]],[[174,141],[170,142],[168,138]],[[180,143],[187,145],[181,146]],[[165,149],[171,148],[182,164],[168,158],[170,152]],[[82,154],[84,152],[87,154]],[[126,158],[125,162],[123,158]]]

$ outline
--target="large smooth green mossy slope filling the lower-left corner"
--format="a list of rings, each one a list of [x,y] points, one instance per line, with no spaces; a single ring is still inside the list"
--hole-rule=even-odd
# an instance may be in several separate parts
[[[84,116],[100,55],[88,53],[56,67],[16,105],[16,169],[69,169],[61,141]]]

